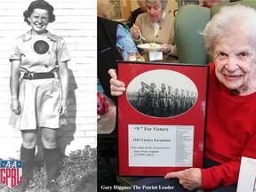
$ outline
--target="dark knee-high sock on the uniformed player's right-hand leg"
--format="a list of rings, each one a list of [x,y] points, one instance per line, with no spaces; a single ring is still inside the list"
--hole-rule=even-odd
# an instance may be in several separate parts
[[[46,165],[47,180],[56,180],[60,168],[59,148],[44,148],[44,162]]]

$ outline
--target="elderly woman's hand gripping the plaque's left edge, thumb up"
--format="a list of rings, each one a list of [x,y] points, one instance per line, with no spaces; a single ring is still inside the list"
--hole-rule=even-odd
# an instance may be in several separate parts
[[[110,92],[112,96],[120,96],[125,92],[125,84],[124,82],[121,82],[117,80],[116,70],[111,68],[108,70],[109,76],[111,76],[110,79]]]

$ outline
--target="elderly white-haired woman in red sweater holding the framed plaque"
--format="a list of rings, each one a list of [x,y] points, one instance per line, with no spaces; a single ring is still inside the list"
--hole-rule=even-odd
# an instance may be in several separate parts
[[[175,191],[202,188],[236,192],[242,156],[256,158],[256,10],[224,6],[203,31],[205,49],[212,54],[204,168],[169,172],[164,179],[146,178],[135,185],[170,185]],[[109,70],[112,95],[122,95],[123,82]],[[145,184],[146,183],[146,184]]]

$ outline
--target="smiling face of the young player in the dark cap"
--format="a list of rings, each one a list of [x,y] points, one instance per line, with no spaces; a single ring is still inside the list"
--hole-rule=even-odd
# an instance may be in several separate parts
[[[44,9],[34,9],[28,18],[30,26],[36,34],[43,34],[49,24],[49,14]]]

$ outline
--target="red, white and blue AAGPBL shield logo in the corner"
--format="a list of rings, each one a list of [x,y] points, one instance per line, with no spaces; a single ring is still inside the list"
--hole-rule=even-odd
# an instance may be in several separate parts
[[[14,188],[22,182],[22,161],[0,161],[0,183],[8,188]]]

